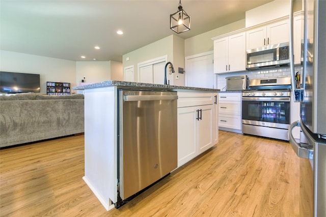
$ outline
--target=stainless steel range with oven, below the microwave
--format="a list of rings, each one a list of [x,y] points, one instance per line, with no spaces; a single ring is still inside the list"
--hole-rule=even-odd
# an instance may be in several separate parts
[[[251,79],[242,92],[242,132],[289,140],[291,78]]]

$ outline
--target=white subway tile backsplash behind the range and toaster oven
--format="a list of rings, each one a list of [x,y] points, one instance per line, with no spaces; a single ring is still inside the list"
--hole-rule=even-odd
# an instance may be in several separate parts
[[[294,67],[294,72],[300,72],[302,74],[302,66]],[[276,77],[290,77],[290,67],[278,68],[278,69],[265,69],[255,71],[242,71],[216,75],[216,86],[217,89],[225,90],[226,88],[226,77],[247,75],[249,79],[255,78],[276,78]]]

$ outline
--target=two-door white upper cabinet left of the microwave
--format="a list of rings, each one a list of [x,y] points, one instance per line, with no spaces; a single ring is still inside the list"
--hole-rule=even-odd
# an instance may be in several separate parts
[[[214,40],[214,73],[246,70],[246,33]]]

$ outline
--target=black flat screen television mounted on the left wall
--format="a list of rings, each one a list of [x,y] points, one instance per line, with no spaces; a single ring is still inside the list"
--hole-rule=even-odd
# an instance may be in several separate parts
[[[40,75],[0,72],[0,92],[40,92]]]

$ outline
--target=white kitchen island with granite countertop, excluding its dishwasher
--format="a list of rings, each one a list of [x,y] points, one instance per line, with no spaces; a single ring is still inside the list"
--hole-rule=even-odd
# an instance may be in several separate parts
[[[218,89],[124,81],[104,81],[73,89],[84,90],[85,95],[83,179],[106,210],[121,201],[119,92],[122,90],[177,92],[177,132],[174,129],[174,134],[177,135],[178,167],[218,142]]]

